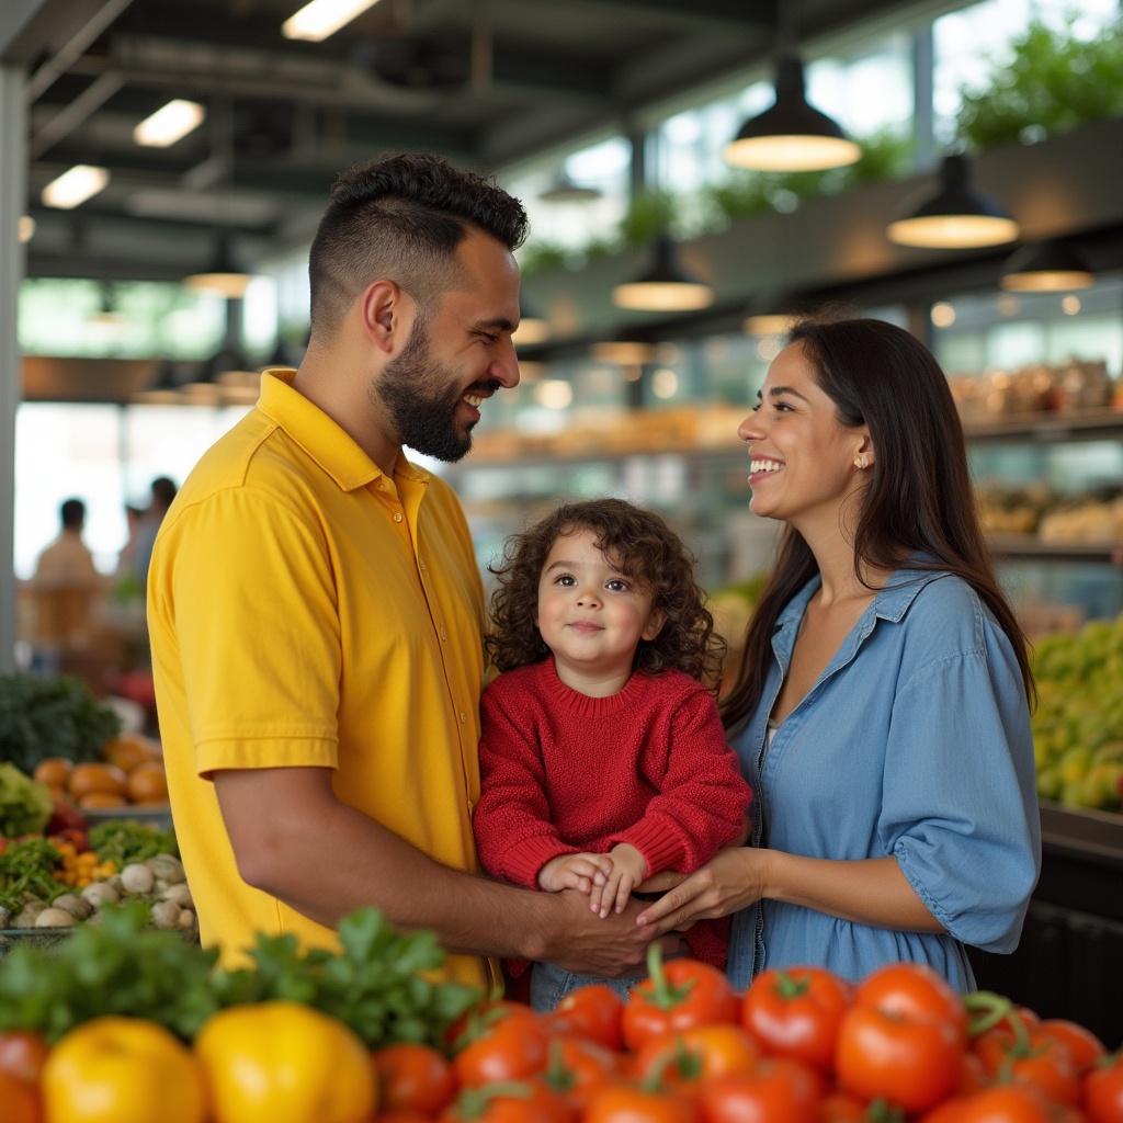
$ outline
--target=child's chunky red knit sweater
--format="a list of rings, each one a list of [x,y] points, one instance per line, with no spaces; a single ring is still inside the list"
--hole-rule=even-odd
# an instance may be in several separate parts
[[[476,847],[494,877],[532,888],[551,858],[628,842],[648,876],[688,874],[731,842],[750,798],[713,696],[679,670],[636,673],[610,697],[563,683],[554,659],[500,675],[482,702]],[[729,920],[687,942],[724,966]]]

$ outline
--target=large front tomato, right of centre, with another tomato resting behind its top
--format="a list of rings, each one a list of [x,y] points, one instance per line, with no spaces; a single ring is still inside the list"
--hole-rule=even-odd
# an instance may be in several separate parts
[[[834,1070],[856,1096],[926,1112],[956,1090],[962,1054],[958,1029],[943,1017],[855,1005],[839,1026]]]

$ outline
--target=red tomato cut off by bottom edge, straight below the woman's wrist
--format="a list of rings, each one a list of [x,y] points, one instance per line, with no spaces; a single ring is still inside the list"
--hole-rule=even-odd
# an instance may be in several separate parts
[[[706,1080],[699,1103],[706,1123],[815,1123],[822,1090],[813,1068],[774,1057],[755,1072]]]

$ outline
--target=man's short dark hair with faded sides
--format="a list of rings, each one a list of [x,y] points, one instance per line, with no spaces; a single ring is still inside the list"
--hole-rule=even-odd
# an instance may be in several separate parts
[[[335,330],[377,277],[394,281],[428,318],[460,281],[455,252],[473,227],[514,249],[527,212],[493,180],[442,156],[385,155],[344,172],[309,252],[312,323]]]

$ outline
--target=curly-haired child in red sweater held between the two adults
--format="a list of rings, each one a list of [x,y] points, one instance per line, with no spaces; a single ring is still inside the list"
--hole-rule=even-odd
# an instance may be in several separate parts
[[[563,504],[510,539],[492,573],[486,642],[503,674],[482,702],[484,869],[579,889],[608,916],[652,874],[743,841],[750,792],[713,696],[722,645],[666,522],[617,499]],[[701,922],[687,942],[723,967],[727,933]],[[591,982],[535,964],[531,1004],[553,1010]]]

